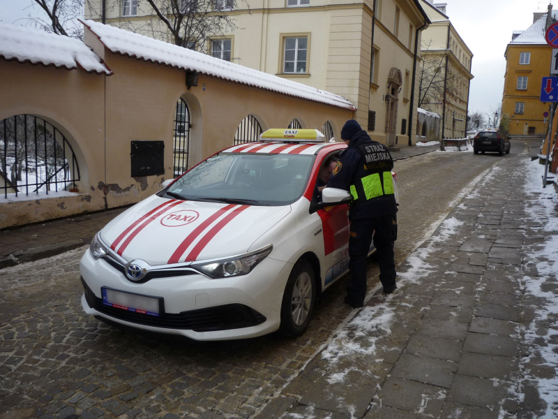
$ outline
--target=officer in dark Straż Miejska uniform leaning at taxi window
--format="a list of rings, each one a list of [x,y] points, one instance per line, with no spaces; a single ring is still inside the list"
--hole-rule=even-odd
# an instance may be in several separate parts
[[[353,196],[349,210],[349,270],[352,282],[347,285],[345,303],[358,308],[363,307],[366,295],[366,263],[372,234],[384,293],[393,293],[397,288],[393,259],[397,212],[391,177],[393,159],[389,149],[372,141],[354,119],[343,126],[341,139],[349,147],[340,154],[328,187],[345,189]]]

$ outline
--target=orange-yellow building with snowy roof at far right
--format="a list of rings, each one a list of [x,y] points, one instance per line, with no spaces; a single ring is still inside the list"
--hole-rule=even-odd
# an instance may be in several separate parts
[[[558,11],[552,11],[558,17]],[[515,31],[506,47],[506,75],[502,99],[502,126],[511,135],[545,133],[544,113],[550,103],[541,102],[543,77],[550,75],[552,47],[545,41],[545,13],[535,14],[535,22],[525,31]]]

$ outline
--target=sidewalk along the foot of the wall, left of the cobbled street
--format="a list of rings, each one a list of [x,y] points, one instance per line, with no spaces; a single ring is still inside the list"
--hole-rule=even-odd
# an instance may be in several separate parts
[[[394,160],[434,152],[439,146],[404,147],[393,153]],[[89,244],[93,236],[127,207],[70,216],[54,221],[0,231],[0,269],[46,258]]]

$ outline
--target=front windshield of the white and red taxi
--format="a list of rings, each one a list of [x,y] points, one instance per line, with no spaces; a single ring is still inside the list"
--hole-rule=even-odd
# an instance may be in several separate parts
[[[289,205],[308,184],[314,155],[219,153],[169,186],[183,200],[247,205]]]

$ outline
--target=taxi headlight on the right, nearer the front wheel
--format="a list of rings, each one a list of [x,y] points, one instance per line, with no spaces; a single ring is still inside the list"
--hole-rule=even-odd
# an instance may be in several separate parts
[[[239,275],[248,274],[258,263],[264,260],[269,253],[271,253],[272,249],[273,246],[269,244],[262,249],[251,251],[250,253],[244,253],[243,255],[236,256],[234,258],[199,263],[190,265],[190,267],[193,267],[195,270],[198,270],[199,272],[202,272],[202,274],[206,274],[208,277],[213,279],[238,277]]]

